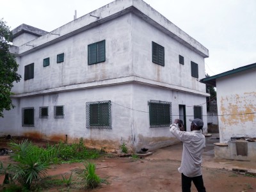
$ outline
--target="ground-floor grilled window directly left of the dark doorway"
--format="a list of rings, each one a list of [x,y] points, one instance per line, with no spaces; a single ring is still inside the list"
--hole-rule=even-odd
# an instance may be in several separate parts
[[[150,100],[148,104],[150,127],[168,127],[172,122],[172,103]]]

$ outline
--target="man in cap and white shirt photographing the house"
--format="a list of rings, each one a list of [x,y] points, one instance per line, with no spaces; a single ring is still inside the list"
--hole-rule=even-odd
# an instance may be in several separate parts
[[[190,192],[191,181],[195,184],[198,192],[205,192],[201,170],[205,136],[200,130],[204,127],[204,122],[199,118],[189,119],[189,121],[191,121],[191,132],[184,131],[183,125],[181,127],[177,125],[179,119],[175,119],[174,123],[170,125],[170,132],[183,142],[181,165],[178,169],[182,175],[182,192]]]

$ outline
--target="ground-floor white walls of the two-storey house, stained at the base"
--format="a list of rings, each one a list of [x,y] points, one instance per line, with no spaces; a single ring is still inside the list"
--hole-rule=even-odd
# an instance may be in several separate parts
[[[111,129],[86,129],[86,102],[103,100],[111,100]],[[67,134],[68,143],[84,138],[87,146],[107,150],[116,150],[123,142],[132,150],[143,147],[153,150],[177,143],[169,127],[150,128],[149,100],[172,102],[172,122],[179,116],[179,104],[188,106],[187,125],[190,125],[188,119],[193,116],[193,108],[189,104],[204,102],[204,97],[132,83],[24,97],[15,102],[15,109],[4,113],[4,119],[13,121],[0,120],[1,134],[55,141],[65,141]],[[48,106],[48,118],[39,118],[42,106]],[[64,118],[54,118],[54,106],[64,106]],[[34,108],[34,127],[22,127],[22,108]]]

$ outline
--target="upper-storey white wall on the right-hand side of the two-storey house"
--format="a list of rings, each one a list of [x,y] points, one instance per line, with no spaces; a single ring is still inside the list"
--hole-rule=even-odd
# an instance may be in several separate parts
[[[164,67],[152,62],[152,41],[164,47]],[[179,54],[184,57],[184,65],[179,63]],[[198,79],[204,78],[205,64],[202,56],[132,15],[132,62],[135,76],[205,92],[205,84],[191,76],[191,61],[198,64]]]

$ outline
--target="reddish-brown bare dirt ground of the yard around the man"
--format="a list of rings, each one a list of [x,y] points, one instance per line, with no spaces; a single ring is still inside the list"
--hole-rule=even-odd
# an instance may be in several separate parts
[[[256,177],[248,177],[234,173],[228,169],[236,162],[214,159],[214,140],[207,140],[205,148],[202,172],[207,191],[256,191]],[[40,141],[38,141],[40,143]],[[0,148],[6,147],[6,143],[0,142]],[[42,143],[41,143],[42,144]],[[43,145],[43,144],[42,144]],[[160,148],[153,151],[151,156],[143,159],[131,157],[101,157],[94,160],[97,164],[97,174],[106,179],[107,184],[100,184],[99,188],[87,191],[181,191],[180,173],[177,171],[180,165],[182,145]],[[0,156],[0,161],[10,162],[9,156]],[[238,162],[239,163],[239,162]],[[248,163],[248,162],[247,162]],[[254,168],[256,163],[246,166]],[[217,166],[218,165],[218,166]],[[107,166],[106,168],[104,168]],[[238,164],[239,166],[239,164]],[[243,162],[241,163],[243,167]],[[76,168],[83,168],[83,163],[52,165],[48,175],[70,174]],[[0,179],[1,182],[1,179]],[[47,191],[76,191],[76,189],[47,189]],[[77,190],[78,191],[78,190]],[[86,191],[86,190],[79,190]],[[196,191],[192,184],[191,191]]]

